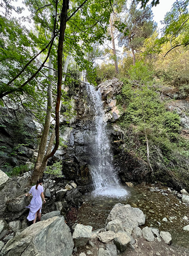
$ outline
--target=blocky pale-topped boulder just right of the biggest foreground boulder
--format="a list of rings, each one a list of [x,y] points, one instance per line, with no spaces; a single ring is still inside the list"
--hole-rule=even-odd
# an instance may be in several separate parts
[[[92,226],[84,226],[77,224],[73,232],[72,238],[75,246],[84,246],[92,235]]]

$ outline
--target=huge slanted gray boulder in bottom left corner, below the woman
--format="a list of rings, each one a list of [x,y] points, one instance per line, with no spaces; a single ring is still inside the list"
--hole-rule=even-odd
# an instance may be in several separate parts
[[[63,217],[37,222],[3,247],[1,256],[71,256],[73,239]]]

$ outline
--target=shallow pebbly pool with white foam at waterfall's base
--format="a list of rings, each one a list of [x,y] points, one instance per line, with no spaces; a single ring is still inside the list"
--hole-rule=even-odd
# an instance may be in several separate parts
[[[77,223],[90,225],[95,229],[102,228],[107,216],[116,203],[130,204],[140,208],[145,216],[144,226],[153,226],[160,231],[169,231],[173,244],[189,248],[189,231],[183,231],[183,227],[189,224],[189,206],[179,202],[179,199],[166,190],[168,194],[162,195],[162,191],[152,191],[157,185],[137,185],[135,187],[123,186],[116,188],[102,188],[85,195],[85,202],[79,208]],[[162,221],[163,218],[168,221]]]

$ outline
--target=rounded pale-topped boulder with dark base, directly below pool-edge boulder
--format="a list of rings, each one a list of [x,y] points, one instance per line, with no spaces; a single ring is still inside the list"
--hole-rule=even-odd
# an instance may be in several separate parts
[[[131,238],[126,232],[118,232],[114,236],[115,245],[120,252],[123,252],[127,249],[128,244],[131,242]]]

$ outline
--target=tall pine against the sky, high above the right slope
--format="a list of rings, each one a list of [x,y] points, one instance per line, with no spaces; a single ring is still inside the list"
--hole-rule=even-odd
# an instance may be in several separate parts
[[[125,28],[119,34],[119,45],[131,49],[133,65],[135,65],[135,52],[144,44],[146,38],[152,35],[155,30],[155,23],[152,21],[152,11],[150,7],[144,10],[137,8],[137,2],[131,2],[131,6],[124,20]]]

